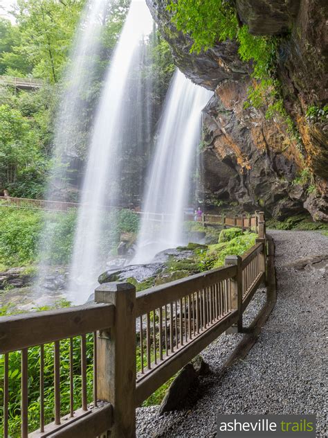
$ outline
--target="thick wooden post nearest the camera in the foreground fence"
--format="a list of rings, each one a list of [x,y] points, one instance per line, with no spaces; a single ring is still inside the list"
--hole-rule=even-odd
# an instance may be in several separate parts
[[[111,437],[136,436],[136,288],[104,283],[95,289],[96,303],[115,306],[115,324],[98,333],[98,392],[113,405]]]

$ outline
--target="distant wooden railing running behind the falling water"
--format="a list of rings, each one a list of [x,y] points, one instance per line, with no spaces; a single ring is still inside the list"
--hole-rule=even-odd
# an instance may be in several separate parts
[[[63,201],[50,201],[50,200],[38,200],[28,198],[12,198],[10,196],[0,196],[0,207],[12,207],[17,209],[33,209],[43,211],[57,211],[66,213],[70,209],[78,209],[82,204],[78,202],[63,202]],[[111,206],[99,206],[98,208],[105,211],[120,210],[123,207],[111,207]],[[134,211],[134,210],[133,210]],[[164,222],[171,222],[173,215],[170,213],[148,213],[145,211],[134,211],[140,217],[145,217],[149,222],[158,222],[159,224]],[[184,213],[183,220],[194,221],[194,214]],[[199,218],[199,223],[203,226],[212,227],[240,227],[242,229],[253,229],[255,231],[258,222],[258,214],[253,215],[239,215],[233,218],[226,215],[215,215],[203,213]]]

